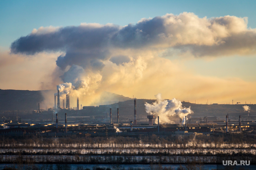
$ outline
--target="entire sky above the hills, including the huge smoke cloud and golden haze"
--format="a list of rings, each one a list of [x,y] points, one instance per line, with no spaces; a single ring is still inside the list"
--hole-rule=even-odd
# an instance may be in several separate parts
[[[85,105],[104,91],[256,104],[255,9],[250,0],[0,0],[0,89],[66,83],[63,95]]]

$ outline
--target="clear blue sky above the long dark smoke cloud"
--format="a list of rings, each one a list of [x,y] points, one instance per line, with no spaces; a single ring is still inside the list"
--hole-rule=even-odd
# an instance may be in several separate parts
[[[68,26],[87,23],[127,25],[141,18],[166,13],[194,12],[199,17],[234,15],[248,17],[248,26],[256,27],[254,0],[181,0],[181,1],[65,1],[0,0],[0,46],[26,36],[40,26]]]

